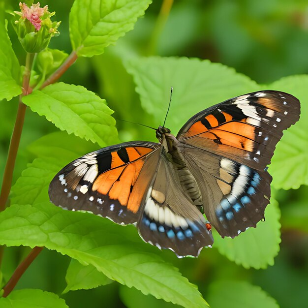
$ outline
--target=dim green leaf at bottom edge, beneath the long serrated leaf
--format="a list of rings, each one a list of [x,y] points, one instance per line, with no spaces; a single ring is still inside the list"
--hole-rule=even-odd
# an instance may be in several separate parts
[[[120,298],[127,308],[177,308],[178,305],[158,300],[151,295],[144,295],[135,288],[120,287]]]

